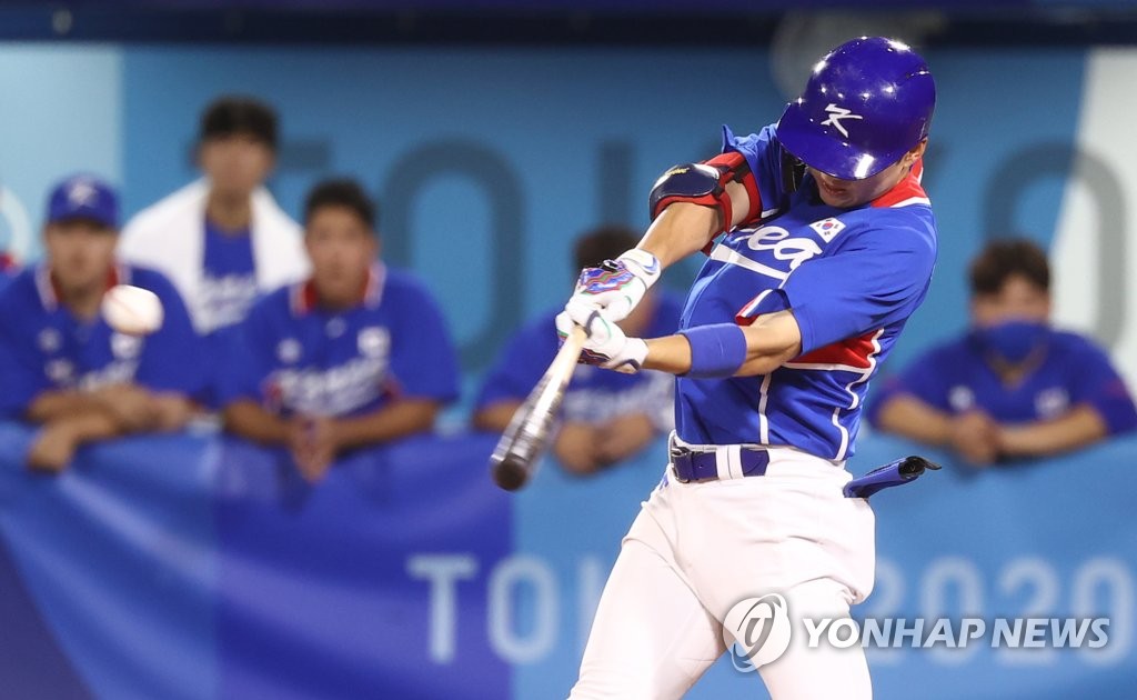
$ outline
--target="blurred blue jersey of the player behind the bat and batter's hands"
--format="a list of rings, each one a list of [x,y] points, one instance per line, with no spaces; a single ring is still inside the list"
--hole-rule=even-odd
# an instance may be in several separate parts
[[[653,298],[655,310],[641,335],[657,338],[674,333],[679,328],[679,299],[666,293],[657,293]],[[476,410],[503,401],[525,400],[557,354],[556,314],[554,311],[542,315],[509,340],[485,377]],[[664,372],[621,374],[580,364],[568,382],[559,418],[596,425],[629,413],[645,413],[661,429],[670,429],[673,393],[674,377]]]

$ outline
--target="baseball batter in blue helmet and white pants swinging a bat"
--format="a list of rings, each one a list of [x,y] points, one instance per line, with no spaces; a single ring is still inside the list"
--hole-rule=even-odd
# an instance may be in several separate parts
[[[872,590],[873,514],[841,487],[869,379],[936,261],[920,186],[935,99],[908,47],[849,41],[777,124],[724,129],[722,155],[664,173],[639,246],[581,273],[557,321],[588,329],[582,361],[678,380],[670,464],[623,541],[572,698],[682,695],[724,628],[740,635],[737,603],[769,593],[795,633],[760,667],[771,695],[871,697],[860,647],[807,648],[802,618],[847,617]],[[624,337],[613,321],[699,249],[679,333]]]

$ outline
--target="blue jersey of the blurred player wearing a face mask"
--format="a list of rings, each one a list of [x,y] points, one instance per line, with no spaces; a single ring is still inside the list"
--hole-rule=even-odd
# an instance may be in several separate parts
[[[1002,423],[1053,420],[1078,405],[1097,411],[1111,434],[1137,427],[1137,410],[1105,353],[1088,339],[1049,330],[1045,355],[1014,385],[1006,385],[985,359],[974,333],[920,356],[889,378],[873,396],[875,422],[889,398],[907,394],[945,413],[982,410]]]

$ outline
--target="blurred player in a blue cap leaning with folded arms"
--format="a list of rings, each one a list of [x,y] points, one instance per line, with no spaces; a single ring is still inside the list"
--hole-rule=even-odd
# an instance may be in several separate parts
[[[177,291],[160,273],[116,264],[118,199],[106,183],[78,175],[51,193],[45,260],[19,273],[0,296],[0,411],[43,423],[32,467],[59,470],[91,440],[176,430],[202,384],[199,339]],[[155,293],[165,319],[156,332],[111,330],[100,313],[115,285]]]

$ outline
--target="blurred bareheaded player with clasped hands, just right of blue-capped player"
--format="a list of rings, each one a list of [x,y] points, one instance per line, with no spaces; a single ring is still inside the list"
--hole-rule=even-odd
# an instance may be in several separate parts
[[[458,396],[458,361],[422,283],[376,261],[375,206],[352,181],[305,203],[312,277],[258,302],[219,398],[226,428],[290,450],[309,480],[343,451],[430,430]]]

